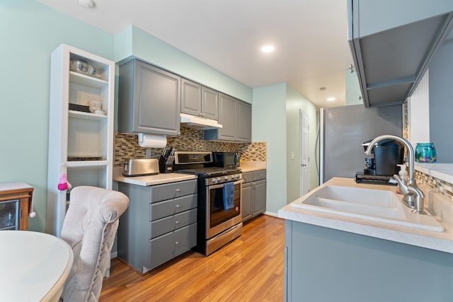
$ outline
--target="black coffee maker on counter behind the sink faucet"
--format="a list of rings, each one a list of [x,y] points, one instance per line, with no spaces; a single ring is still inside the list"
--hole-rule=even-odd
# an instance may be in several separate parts
[[[369,146],[369,141],[365,141],[364,151]],[[398,164],[403,163],[404,146],[394,139],[383,139],[374,145],[370,155],[365,154],[365,169],[355,174],[356,182],[389,182],[394,174],[398,174]]]

